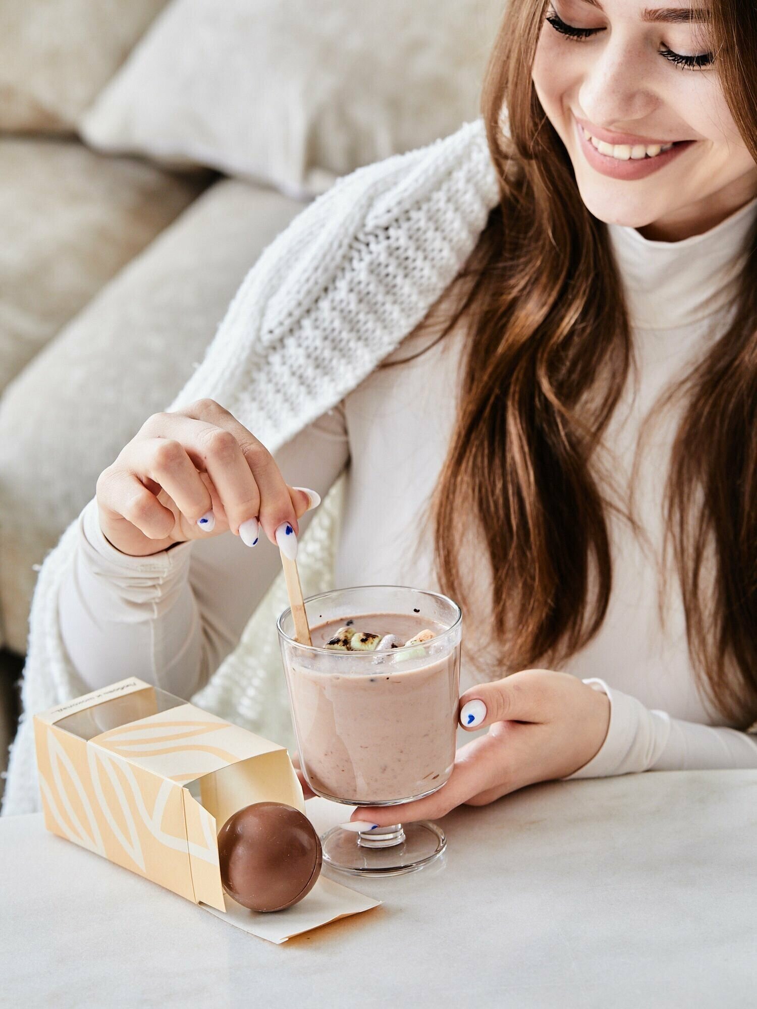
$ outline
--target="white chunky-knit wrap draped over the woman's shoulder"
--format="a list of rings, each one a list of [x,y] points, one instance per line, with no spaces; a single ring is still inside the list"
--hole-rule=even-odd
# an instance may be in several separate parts
[[[480,119],[340,179],[264,250],[203,361],[167,409],[210,397],[277,452],[421,322],[464,264],[498,199]],[[329,507],[316,515],[303,537],[298,563],[306,591],[326,587],[334,514]],[[44,558],[34,588],[23,714],[3,813],[40,808],[31,715],[87,689],[58,618],[76,536],[74,521]],[[288,722],[274,661],[273,607],[285,604],[280,593],[275,584],[238,648],[192,698],[277,741]]]

